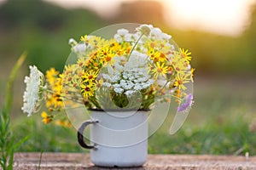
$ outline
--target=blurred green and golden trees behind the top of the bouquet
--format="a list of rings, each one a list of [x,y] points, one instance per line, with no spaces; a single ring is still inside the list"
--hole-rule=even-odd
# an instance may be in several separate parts
[[[70,53],[70,37],[95,31],[115,22],[144,22],[160,26],[181,47],[194,55],[197,73],[230,74],[256,71],[256,10],[251,8],[251,24],[240,37],[224,37],[201,31],[179,31],[167,27],[162,6],[154,1],[124,3],[112,20],[102,20],[89,9],[65,9],[41,0],[8,0],[0,6],[0,59],[28,51],[28,64],[45,71],[61,70]],[[151,11],[152,14],[142,13]],[[127,12],[128,11],[128,12]],[[130,11],[133,11],[132,14]]]

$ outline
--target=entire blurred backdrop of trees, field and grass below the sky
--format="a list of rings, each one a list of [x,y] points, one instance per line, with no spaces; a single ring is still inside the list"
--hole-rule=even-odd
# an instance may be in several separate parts
[[[148,5],[151,4],[151,5]],[[131,12],[132,11],[132,12]],[[41,118],[22,114],[23,79],[28,65],[45,72],[61,71],[70,47],[68,39],[116,23],[148,23],[171,34],[193,54],[195,105],[178,133],[170,136],[166,121],[149,139],[149,153],[256,154],[256,6],[245,31],[236,37],[207,31],[178,30],[164,20],[163,4],[132,1],[108,20],[92,9],[61,8],[41,0],[7,0],[0,4],[0,104],[9,71],[23,51],[28,53],[15,81],[12,125],[16,139],[29,135],[20,151],[84,151],[75,129],[43,125]],[[220,26],[221,27],[221,26]],[[70,135],[70,138],[67,136]]]

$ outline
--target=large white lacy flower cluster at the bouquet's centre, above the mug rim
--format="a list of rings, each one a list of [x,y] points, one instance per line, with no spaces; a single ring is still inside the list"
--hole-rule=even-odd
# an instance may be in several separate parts
[[[132,95],[148,88],[154,83],[143,66],[146,65],[147,55],[134,51],[125,65],[122,58],[117,58],[113,67],[108,66],[108,73],[103,73],[103,86],[113,88],[118,94]]]

